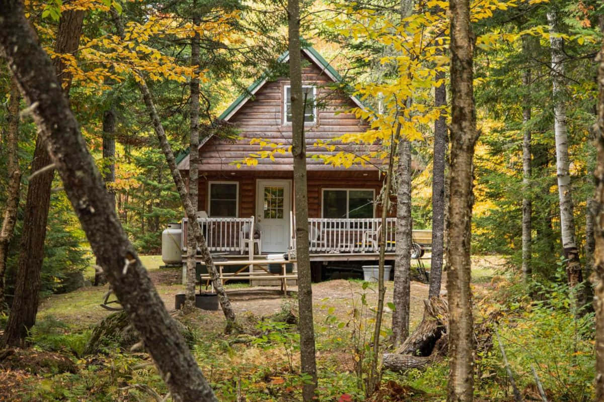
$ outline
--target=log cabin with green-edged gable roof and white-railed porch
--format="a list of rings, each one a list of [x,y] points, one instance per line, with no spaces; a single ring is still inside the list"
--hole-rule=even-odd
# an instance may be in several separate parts
[[[362,133],[369,124],[350,111],[365,106],[337,89],[342,78],[330,63],[312,47],[304,48],[302,55],[309,240],[316,279],[320,266],[332,262],[346,265],[373,260],[375,264],[381,228],[381,207],[376,199],[384,181],[380,169],[384,162],[371,160],[349,168],[324,162],[322,155],[340,151],[366,155],[376,145],[336,143],[332,152],[316,145],[342,134]],[[288,60],[287,53],[280,58],[283,63]],[[244,255],[259,259],[295,252],[292,154],[285,151],[275,152],[272,159],[257,157],[271,149],[265,144],[285,150],[291,145],[289,93],[287,77],[261,77],[219,116],[237,128],[238,136],[210,136],[199,146],[199,220],[213,253],[229,259]],[[251,155],[256,155],[255,162],[245,163]],[[188,155],[181,155],[177,162],[188,176]],[[186,224],[184,219],[182,233],[186,233]],[[390,215],[388,259],[394,256],[395,224],[396,218]],[[181,247],[185,249],[185,241]]]

